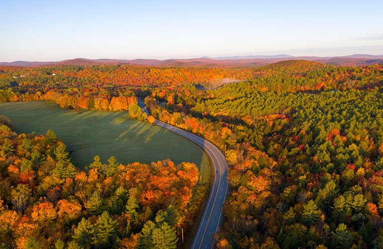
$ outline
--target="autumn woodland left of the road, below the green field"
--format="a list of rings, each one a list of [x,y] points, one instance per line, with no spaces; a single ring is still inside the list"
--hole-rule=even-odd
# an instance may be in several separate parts
[[[1,248],[174,249],[207,192],[187,162],[95,156],[81,171],[52,130],[17,134],[4,116],[0,144]]]

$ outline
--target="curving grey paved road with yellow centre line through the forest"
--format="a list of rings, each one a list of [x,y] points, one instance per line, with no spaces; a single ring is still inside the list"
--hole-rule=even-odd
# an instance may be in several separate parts
[[[138,99],[138,105],[141,107],[142,112],[149,116],[147,108],[140,99]],[[173,125],[166,124],[159,120],[155,120],[154,124],[160,125],[164,128],[176,132],[177,134],[185,136],[186,138],[201,146],[210,156],[210,159],[213,162],[214,171],[218,172],[218,176],[214,176],[214,183],[210,192],[209,199],[207,200],[202,219],[199,223],[193,243],[191,244],[191,249],[211,249],[215,246],[213,236],[221,224],[221,205],[226,199],[228,190],[227,163],[225,156],[214,144],[200,136],[177,128]]]

